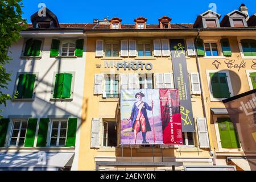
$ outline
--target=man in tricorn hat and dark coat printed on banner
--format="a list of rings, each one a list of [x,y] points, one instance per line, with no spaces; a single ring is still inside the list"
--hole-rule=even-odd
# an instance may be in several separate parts
[[[152,110],[153,101],[151,101],[151,106],[146,102],[142,101],[142,97],[145,95],[142,92],[135,94],[137,102],[134,103],[133,109],[131,110],[131,119],[133,121],[133,131],[134,131],[134,143],[137,142],[137,134],[142,131],[142,143],[148,143],[146,140],[146,132],[151,131],[150,123],[147,118],[147,110]]]

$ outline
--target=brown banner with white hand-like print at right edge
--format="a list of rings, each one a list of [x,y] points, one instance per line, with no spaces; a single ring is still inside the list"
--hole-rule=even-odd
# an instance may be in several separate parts
[[[256,89],[222,101],[238,133],[247,161],[256,170]],[[230,139],[232,142],[232,138]]]

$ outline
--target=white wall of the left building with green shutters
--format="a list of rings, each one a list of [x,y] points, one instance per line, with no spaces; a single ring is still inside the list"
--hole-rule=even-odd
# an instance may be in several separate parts
[[[38,72],[38,85],[35,85],[35,100],[32,102],[12,102],[7,101],[7,106],[0,106],[3,112],[3,118],[10,115],[32,115],[32,118],[48,118],[48,115],[70,115],[70,117],[78,118],[78,130],[76,137],[76,155],[73,161],[73,169],[76,169],[78,151],[79,151],[79,127],[81,123],[82,96],[84,92],[84,71],[85,71],[85,50],[86,39],[84,40],[84,53],[82,57],[76,59],[61,59],[49,57],[52,38],[46,38],[43,41],[42,59],[23,60],[22,55],[24,39],[20,39],[9,48],[9,56],[13,60],[6,65],[7,71],[11,72],[11,82],[8,89],[3,90],[4,93],[14,94],[15,82],[18,72]],[[75,82],[73,89],[72,102],[53,102],[52,86],[55,84],[56,72],[75,72]],[[76,159],[77,157],[77,159]]]

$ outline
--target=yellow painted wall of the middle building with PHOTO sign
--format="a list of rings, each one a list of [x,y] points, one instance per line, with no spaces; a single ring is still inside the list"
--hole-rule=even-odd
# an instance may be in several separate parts
[[[95,169],[95,157],[105,157],[115,160],[115,156],[121,156],[121,148],[90,148],[90,125],[92,118],[108,118],[111,117],[117,108],[117,100],[106,99],[102,100],[102,96],[94,96],[94,74],[96,73],[110,73],[110,68],[104,68],[104,58],[95,57],[96,40],[105,38],[88,38],[86,49],[86,66],[84,77],[84,98],[82,106],[82,122],[80,129],[80,151],[79,151],[79,170],[94,170]],[[129,38],[115,38],[115,40],[122,40]],[[131,38],[136,39],[136,38]],[[144,40],[153,40],[152,38],[143,38]],[[158,38],[159,39],[159,38]],[[177,39],[177,38],[176,38]],[[139,39],[137,39],[139,40]],[[114,59],[111,59],[114,60]],[[138,60],[136,58],[123,59],[119,57],[116,61]],[[138,60],[144,63],[150,62],[153,64],[151,71],[123,71],[120,69],[112,69],[116,74],[119,73],[168,73],[172,72],[172,63],[170,57],[152,57],[152,59]],[[96,68],[96,64],[101,64],[102,68]],[[196,67],[196,59],[188,57],[187,59],[188,72],[198,72]],[[113,73],[113,72],[111,72]],[[200,96],[193,96],[192,98],[193,115],[195,118],[203,118],[203,107],[201,104]],[[119,120],[118,120],[119,121]],[[118,129],[120,130],[120,129]],[[118,131],[119,132],[119,131]],[[196,134],[197,135],[197,134]],[[198,146],[198,144],[196,144]],[[155,148],[155,156],[162,156],[160,148]],[[200,149],[197,147],[184,147],[184,148],[170,148],[163,149],[164,156],[175,156],[176,158],[209,158],[209,149]],[[130,148],[123,149],[123,156],[130,157]],[[133,149],[133,156],[148,157],[151,160],[152,148],[135,148]]]

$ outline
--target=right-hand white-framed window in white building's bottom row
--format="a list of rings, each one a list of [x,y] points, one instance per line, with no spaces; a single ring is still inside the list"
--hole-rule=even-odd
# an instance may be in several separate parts
[[[50,146],[65,146],[67,138],[67,120],[53,120],[51,127]]]

